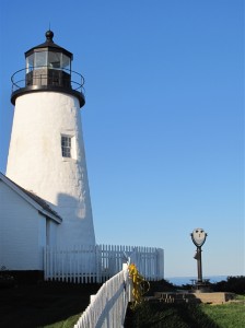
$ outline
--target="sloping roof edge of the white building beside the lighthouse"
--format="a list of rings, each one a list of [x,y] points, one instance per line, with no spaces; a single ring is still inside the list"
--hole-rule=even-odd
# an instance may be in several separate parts
[[[24,198],[28,203],[31,203],[34,208],[36,208],[43,215],[61,223],[62,219],[59,216],[59,214],[54,211],[49,204],[37,195],[33,194],[32,191],[28,191],[18,184],[15,184],[13,180],[8,178],[4,174],[0,172],[0,180],[5,183],[11,189],[13,189],[15,192],[18,192],[22,198]]]

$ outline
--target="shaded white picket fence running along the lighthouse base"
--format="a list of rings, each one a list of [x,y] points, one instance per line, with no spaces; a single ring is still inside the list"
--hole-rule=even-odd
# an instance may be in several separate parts
[[[45,280],[78,283],[104,282],[118,273],[128,258],[148,280],[164,278],[163,249],[133,246],[79,246],[73,249],[46,247]]]

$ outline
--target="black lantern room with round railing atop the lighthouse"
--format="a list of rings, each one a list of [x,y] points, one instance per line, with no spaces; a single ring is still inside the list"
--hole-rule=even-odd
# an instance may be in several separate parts
[[[54,32],[47,31],[46,42],[25,52],[26,67],[15,72],[12,80],[11,102],[18,96],[40,91],[69,93],[79,98],[80,106],[85,103],[84,79],[71,70],[73,55],[54,43]]]

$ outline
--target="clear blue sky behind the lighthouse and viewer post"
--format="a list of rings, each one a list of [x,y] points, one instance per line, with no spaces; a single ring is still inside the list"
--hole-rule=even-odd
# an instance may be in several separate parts
[[[2,0],[3,173],[10,78],[49,23],[85,78],[97,243],[162,247],[165,277],[196,276],[189,234],[203,227],[203,276],[244,274],[243,1]]]

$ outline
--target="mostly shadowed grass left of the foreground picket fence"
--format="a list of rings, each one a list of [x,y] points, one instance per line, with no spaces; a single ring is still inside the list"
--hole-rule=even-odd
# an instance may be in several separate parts
[[[98,284],[42,283],[0,290],[0,327],[70,328]]]

